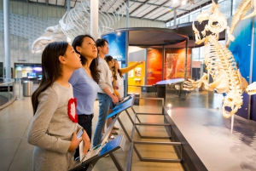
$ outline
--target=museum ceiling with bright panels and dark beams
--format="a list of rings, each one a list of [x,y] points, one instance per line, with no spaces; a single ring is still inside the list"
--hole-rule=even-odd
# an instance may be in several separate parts
[[[67,0],[11,0],[26,3],[40,3],[50,6],[60,6],[67,8]],[[70,6],[73,8],[84,0],[70,0]],[[90,0],[87,0],[90,3]],[[126,3],[127,0],[99,0],[102,5],[99,10],[104,13],[113,13],[113,7],[118,9],[120,3]],[[186,4],[183,4],[185,2]],[[177,11],[177,17],[188,14],[196,9],[200,9],[212,0],[129,0],[129,16],[131,18],[155,20],[168,22],[174,18],[174,9]],[[126,12],[124,12],[126,15]]]

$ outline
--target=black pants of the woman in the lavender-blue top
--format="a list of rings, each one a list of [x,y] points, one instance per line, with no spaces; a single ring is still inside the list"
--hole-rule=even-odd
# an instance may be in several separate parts
[[[93,114],[91,115],[78,115],[79,117],[79,125],[84,128],[85,132],[88,134],[91,140],[91,125]],[[77,148],[74,158],[79,157],[79,148]]]

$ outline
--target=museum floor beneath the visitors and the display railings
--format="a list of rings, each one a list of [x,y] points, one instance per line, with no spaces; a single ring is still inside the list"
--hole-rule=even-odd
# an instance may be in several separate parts
[[[37,85],[34,85],[36,88]],[[21,88],[22,89],[22,88]],[[141,93],[140,88],[131,88],[129,92]],[[196,93],[196,92],[195,92]],[[154,97],[154,93],[141,93],[143,97]],[[183,104],[183,101],[181,101]],[[93,119],[93,131],[97,122],[98,102],[95,102],[95,117]],[[135,111],[145,112],[161,112],[161,102],[156,100],[141,100],[140,105],[134,106]],[[127,115],[120,115],[122,123],[129,134],[131,134],[132,124]],[[140,117],[142,122],[163,122],[163,117]],[[1,171],[30,171],[32,170],[32,151],[33,146],[27,143],[27,130],[32,121],[32,105],[30,97],[23,97],[22,100],[16,100],[13,104],[0,111],[0,170]],[[115,124],[120,128],[119,123]],[[167,135],[165,128],[160,127],[139,127],[143,135]],[[119,134],[124,132],[119,129]],[[135,134],[135,140],[140,140]],[[148,140],[150,141],[150,140]],[[170,140],[154,140],[154,141],[170,141]],[[130,143],[126,141],[125,151],[115,151],[119,162],[126,169],[127,157]],[[176,153],[170,145],[137,145],[138,151],[143,157],[161,157],[161,158],[177,158]],[[112,171],[117,170],[110,157],[104,157],[96,163],[94,171]],[[140,162],[136,153],[133,152],[132,170],[173,170],[183,171],[180,163],[172,162]]]

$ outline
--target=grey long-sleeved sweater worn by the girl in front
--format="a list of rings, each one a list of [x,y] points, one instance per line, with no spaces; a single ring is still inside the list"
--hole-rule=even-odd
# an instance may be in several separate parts
[[[78,123],[68,117],[68,100],[73,88],[53,83],[38,96],[38,109],[32,118],[28,142],[35,145],[33,170],[67,170],[73,163],[73,152],[68,151]]]

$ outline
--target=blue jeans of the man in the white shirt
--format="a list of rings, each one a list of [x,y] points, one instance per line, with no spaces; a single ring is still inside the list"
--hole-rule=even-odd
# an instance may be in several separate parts
[[[97,98],[99,100],[100,111],[92,143],[93,147],[102,143],[102,129],[104,128],[106,123],[106,117],[108,116],[109,107],[112,105],[112,99],[108,96],[108,94],[98,93]]]

